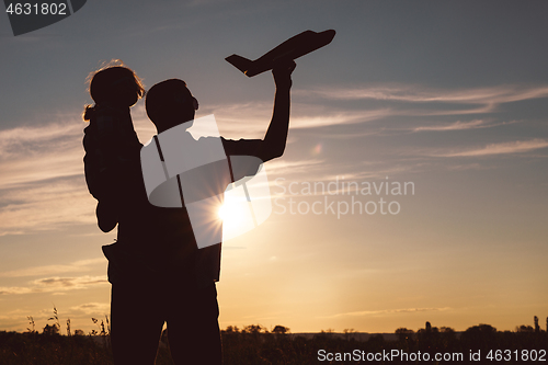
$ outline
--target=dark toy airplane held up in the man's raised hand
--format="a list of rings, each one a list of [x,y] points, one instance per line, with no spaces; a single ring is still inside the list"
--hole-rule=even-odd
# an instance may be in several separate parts
[[[305,31],[290,37],[255,60],[250,60],[238,55],[228,56],[225,59],[248,77],[253,77],[272,70],[274,65],[278,62],[299,58],[312,50],[327,46],[333,41],[335,31],[333,30],[320,33]]]

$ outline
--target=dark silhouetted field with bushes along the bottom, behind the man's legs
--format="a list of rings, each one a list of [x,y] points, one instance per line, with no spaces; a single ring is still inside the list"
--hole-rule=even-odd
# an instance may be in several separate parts
[[[56,324],[49,326],[43,333],[32,330],[0,332],[0,364],[113,364],[107,327],[93,335],[60,335],[58,330],[52,330]],[[393,341],[387,341],[380,334],[358,341],[359,335],[352,331],[301,337],[289,334],[287,330],[284,327],[276,327],[273,331],[261,326],[248,326],[241,330],[228,327],[221,333],[225,364],[415,364],[424,362],[424,356],[429,356],[433,364],[543,364],[548,361],[548,333],[538,327],[522,326],[515,331],[500,332],[489,324],[480,324],[457,333],[450,328],[437,329],[427,323],[425,329],[416,332],[398,329],[392,335]],[[378,361],[368,360],[367,356],[375,354],[378,354]],[[398,355],[388,361],[386,354]],[[434,361],[436,354],[445,355],[446,361]],[[480,354],[481,360],[471,361],[472,354]],[[165,337],[160,341],[156,364],[173,364]]]

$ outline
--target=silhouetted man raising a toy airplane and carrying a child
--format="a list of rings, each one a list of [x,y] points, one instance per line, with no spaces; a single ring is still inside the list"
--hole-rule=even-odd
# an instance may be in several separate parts
[[[220,137],[227,156],[269,161],[283,155],[294,69],[292,61],[273,70],[274,111],[264,139]],[[193,121],[198,103],[184,81],[171,79],[148,91],[146,106],[160,134]],[[126,168],[117,242],[103,247],[112,283],[115,364],[152,364],[164,322],[175,364],[221,364],[215,287],[220,242],[198,249],[184,202],[181,208],[151,205],[138,161]]]

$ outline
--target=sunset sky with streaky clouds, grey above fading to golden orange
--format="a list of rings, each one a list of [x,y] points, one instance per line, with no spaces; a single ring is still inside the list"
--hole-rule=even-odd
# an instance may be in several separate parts
[[[221,328],[544,327],[547,14],[546,1],[95,0],[16,37],[0,15],[0,330],[27,316],[42,330],[55,306],[62,333],[67,318],[89,332],[110,311],[101,246],[116,232],[96,227],[83,178],[91,71],[119,58],[147,89],[183,79],[222,136],[262,138],[272,76],[225,57],[329,28],[332,44],[297,60],[287,148],[265,164],[273,213],[225,244]],[[132,114],[148,141],[142,101]]]

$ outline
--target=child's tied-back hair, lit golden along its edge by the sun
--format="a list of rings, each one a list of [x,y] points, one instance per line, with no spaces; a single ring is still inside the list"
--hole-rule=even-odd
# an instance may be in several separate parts
[[[125,80],[132,80],[135,83],[137,98],[142,98],[145,95],[145,85],[142,81],[119,59],[113,59],[99,70],[91,72],[88,76],[87,82],[90,84],[88,90],[95,105],[116,98],[116,94],[113,94],[113,89],[117,82]],[[94,106],[85,105],[82,115],[83,119],[89,121],[93,111]]]

